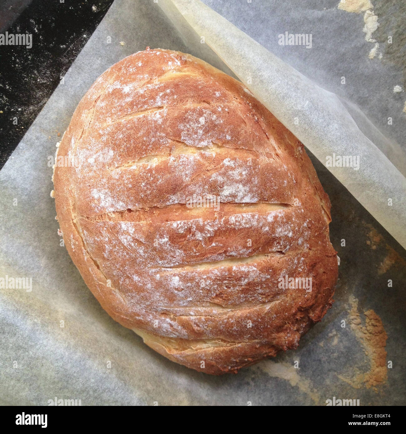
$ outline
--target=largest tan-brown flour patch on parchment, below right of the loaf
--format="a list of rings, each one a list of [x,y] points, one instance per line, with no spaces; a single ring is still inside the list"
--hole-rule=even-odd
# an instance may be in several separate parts
[[[365,325],[363,325],[358,312],[358,300],[354,296],[350,296],[348,313],[350,328],[363,346],[370,362],[370,370],[368,372],[356,370],[355,375],[351,378],[343,375],[338,375],[338,377],[353,388],[373,388],[377,392],[376,386],[382,385],[387,380],[385,347],[388,335],[386,335],[382,320],[372,309],[364,312]]]

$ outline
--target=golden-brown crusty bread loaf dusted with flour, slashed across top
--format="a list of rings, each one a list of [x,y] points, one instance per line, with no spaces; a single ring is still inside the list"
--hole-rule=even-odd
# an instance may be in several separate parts
[[[296,348],[331,306],[330,201],[303,145],[202,60],[116,63],[58,156],[77,162],[54,171],[69,255],[109,315],[174,362],[237,372]]]

